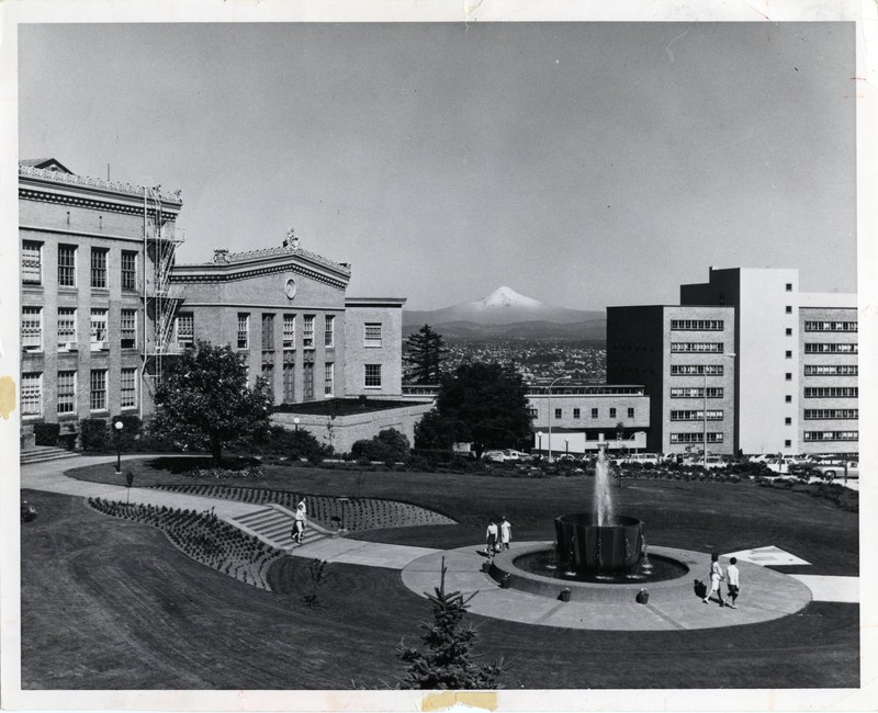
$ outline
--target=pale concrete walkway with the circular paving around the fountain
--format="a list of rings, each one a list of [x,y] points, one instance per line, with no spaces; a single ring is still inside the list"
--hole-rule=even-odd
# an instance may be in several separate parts
[[[143,457],[144,454],[133,454],[123,456],[123,461]],[[99,455],[22,465],[21,488],[82,498],[100,497],[119,501],[130,499],[131,502],[195,511],[213,510],[217,517],[226,521],[233,521],[266,507],[156,488],[133,487],[128,491],[124,485],[102,485],[76,480],[64,475],[69,469],[88,465],[106,464],[108,467],[113,467],[115,461],[115,456]],[[754,624],[786,616],[801,610],[811,600],[858,601],[857,577],[783,575],[759,566],[767,563],[758,563],[759,557],[754,556],[752,562],[740,563],[742,595],[739,599],[739,609],[720,608],[717,603],[705,606],[694,595],[645,606],[635,602],[562,602],[552,597],[500,588],[494,579],[482,571],[484,558],[479,554],[480,548],[479,544],[473,544],[440,551],[345,537],[325,537],[294,546],[285,552],[296,557],[316,557],[327,562],[397,569],[401,570],[405,586],[420,596],[432,592],[439,586],[441,561],[444,557],[448,567],[447,590],[476,595],[470,602],[473,613],[526,624],[565,629],[617,631],[714,629]],[[763,554],[759,551],[753,552]],[[744,567],[747,568],[746,576]]]

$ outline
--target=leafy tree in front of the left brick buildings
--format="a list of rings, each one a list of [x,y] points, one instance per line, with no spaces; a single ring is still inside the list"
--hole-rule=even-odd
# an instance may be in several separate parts
[[[247,371],[229,346],[199,341],[175,359],[156,389],[153,432],[187,448],[206,448],[219,463],[224,444],[263,438],[271,418],[264,380]]]

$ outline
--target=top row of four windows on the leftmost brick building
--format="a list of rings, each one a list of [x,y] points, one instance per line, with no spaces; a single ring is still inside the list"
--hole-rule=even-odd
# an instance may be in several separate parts
[[[42,242],[23,240],[21,250],[21,280],[25,285],[42,285],[43,276]],[[58,286],[77,287],[77,254],[75,245],[58,246]],[[89,286],[94,290],[110,287],[110,249],[91,248]],[[120,284],[122,290],[137,288],[137,252],[122,250],[119,261]]]

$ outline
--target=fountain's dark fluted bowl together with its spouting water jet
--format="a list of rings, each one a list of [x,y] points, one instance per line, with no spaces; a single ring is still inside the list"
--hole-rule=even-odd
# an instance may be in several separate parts
[[[593,512],[555,518],[558,559],[574,574],[614,573],[637,567],[645,550],[641,520],[614,511],[607,443],[598,442]]]

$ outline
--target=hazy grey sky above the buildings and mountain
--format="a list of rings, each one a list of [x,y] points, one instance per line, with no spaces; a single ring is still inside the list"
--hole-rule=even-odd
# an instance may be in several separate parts
[[[182,189],[182,261],[280,246],[352,296],[856,290],[849,23],[20,29],[20,155]]]

